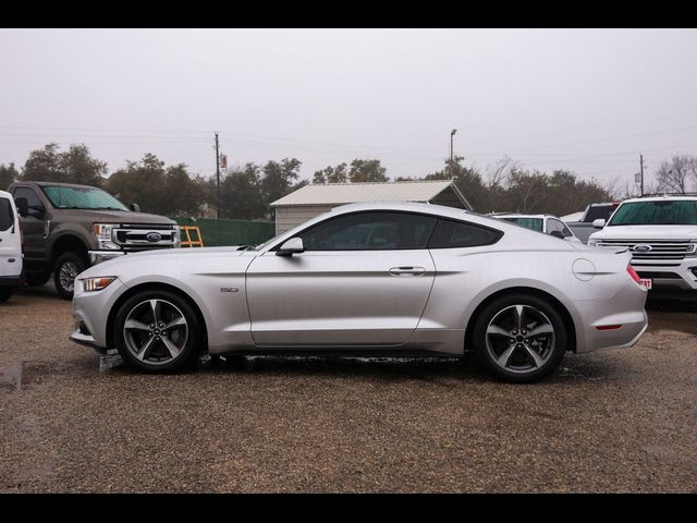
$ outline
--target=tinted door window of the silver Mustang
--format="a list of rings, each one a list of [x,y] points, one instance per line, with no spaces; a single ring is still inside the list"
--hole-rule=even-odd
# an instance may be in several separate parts
[[[426,248],[436,217],[369,211],[331,218],[301,232],[305,251]]]

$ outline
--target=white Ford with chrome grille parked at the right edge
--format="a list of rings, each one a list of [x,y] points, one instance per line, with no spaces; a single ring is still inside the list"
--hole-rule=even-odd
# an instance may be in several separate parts
[[[652,196],[622,202],[589,246],[627,247],[648,289],[697,291],[697,197]],[[603,227],[604,226],[604,227]]]

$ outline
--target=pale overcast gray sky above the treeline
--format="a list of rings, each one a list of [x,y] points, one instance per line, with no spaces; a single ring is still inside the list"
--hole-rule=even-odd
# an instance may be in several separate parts
[[[0,163],[84,143],[215,173],[286,157],[424,177],[574,171],[632,190],[697,155],[695,29],[0,29]]]

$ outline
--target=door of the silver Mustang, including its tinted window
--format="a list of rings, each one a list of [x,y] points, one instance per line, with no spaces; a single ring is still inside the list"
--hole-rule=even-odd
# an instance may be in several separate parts
[[[259,346],[389,346],[406,342],[435,266],[427,215],[362,211],[301,231],[305,251],[257,257],[246,278]]]

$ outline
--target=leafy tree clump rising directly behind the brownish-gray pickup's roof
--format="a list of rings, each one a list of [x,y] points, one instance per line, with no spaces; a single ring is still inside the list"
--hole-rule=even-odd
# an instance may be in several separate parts
[[[101,186],[107,163],[93,158],[85,144],[71,145],[64,153],[56,143],[29,153],[21,174],[22,180],[80,183]]]

